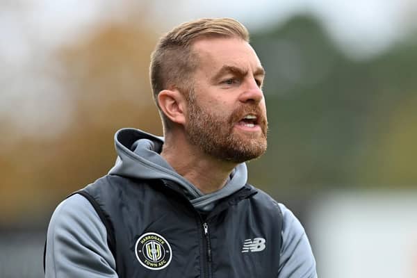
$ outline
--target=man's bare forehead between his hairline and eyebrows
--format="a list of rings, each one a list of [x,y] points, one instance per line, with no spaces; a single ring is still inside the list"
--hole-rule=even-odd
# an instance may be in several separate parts
[[[203,38],[193,44],[199,70],[216,70],[223,65],[234,65],[256,71],[261,67],[251,45],[240,38]]]

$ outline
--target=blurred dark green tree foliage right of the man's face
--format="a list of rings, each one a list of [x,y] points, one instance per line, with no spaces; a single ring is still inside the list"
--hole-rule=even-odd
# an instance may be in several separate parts
[[[268,152],[250,163],[268,191],[417,186],[417,48],[354,62],[295,17],[252,36],[266,69]]]

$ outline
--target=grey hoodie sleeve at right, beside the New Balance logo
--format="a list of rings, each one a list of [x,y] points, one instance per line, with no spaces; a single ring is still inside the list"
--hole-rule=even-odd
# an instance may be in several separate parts
[[[279,207],[284,222],[278,278],[317,278],[316,260],[304,228],[286,206]]]

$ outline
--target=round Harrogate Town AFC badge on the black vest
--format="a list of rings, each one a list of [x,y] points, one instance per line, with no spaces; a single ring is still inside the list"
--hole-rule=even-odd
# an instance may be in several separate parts
[[[166,268],[172,259],[170,243],[156,233],[142,234],[135,245],[139,263],[150,270]]]

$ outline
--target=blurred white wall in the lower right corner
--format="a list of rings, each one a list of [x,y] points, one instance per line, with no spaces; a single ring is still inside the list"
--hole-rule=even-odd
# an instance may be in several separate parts
[[[308,219],[320,278],[417,277],[417,191],[332,193]]]

